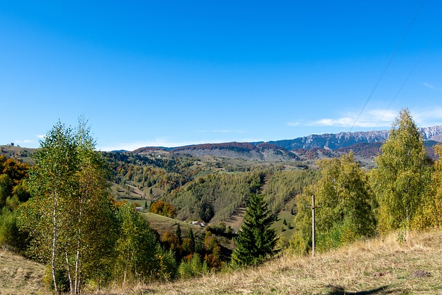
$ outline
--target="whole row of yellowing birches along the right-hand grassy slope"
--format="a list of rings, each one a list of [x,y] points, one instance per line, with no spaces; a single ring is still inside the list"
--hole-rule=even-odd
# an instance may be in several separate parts
[[[412,229],[442,224],[442,146],[434,147],[439,160],[427,155],[423,138],[403,109],[392,125],[377,167],[363,171],[352,151],[341,158],[321,160],[320,178],[298,198],[293,249],[311,249],[311,195],[316,213],[316,245],[325,251],[360,238],[398,231],[407,240]]]

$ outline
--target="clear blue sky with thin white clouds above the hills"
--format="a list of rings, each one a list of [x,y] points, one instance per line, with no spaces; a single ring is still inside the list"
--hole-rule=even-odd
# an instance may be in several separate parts
[[[1,1],[0,144],[80,115],[102,150],[390,129],[403,107],[442,125],[442,1],[407,31],[422,3]]]

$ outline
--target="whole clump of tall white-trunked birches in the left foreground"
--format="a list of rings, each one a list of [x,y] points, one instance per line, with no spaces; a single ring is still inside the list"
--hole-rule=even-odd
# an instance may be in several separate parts
[[[19,225],[32,238],[31,254],[49,263],[55,292],[63,272],[79,294],[106,258],[113,215],[104,164],[86,122],[76,131],[58,122],[40,142],[29,177],[32,198],[19,210]]]

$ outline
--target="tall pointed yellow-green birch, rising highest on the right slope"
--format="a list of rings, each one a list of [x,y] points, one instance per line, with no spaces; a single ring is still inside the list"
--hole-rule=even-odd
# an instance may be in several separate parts
[[[372,174],[378,229],[403,229],[406,235],[420,216],[431,175],[423,137],[406,108],[396,117],[381,151]]]

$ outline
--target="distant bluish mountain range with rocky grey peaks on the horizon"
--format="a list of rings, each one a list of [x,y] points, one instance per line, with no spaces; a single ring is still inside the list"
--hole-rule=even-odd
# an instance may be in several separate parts
[[[419,128],[423,140],[432,146],[442,142],[442,126]],[[214,155],[229,158],[247,158],[258,161],[306,160],[333,157],[338,153],[354,150],[364,158],[373,158],[381,143],[387,140],[389,131],[341,132],[308,135],[293,140],[269,142],[226,142],[220,144],[194,144],[175,148],[143,147],[133,153],[190,154],[193,156]]]

